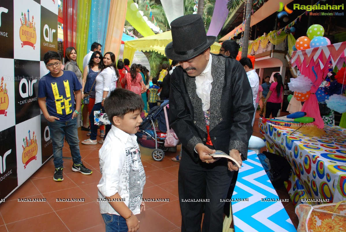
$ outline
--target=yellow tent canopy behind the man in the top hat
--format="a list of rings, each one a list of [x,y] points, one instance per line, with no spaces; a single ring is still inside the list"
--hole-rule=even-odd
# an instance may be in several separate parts
[[[171,31],[134,39],[131,41],[125,41],[124,58],[129,59],[131,62],[136,50],[143,52],[155,51],[162,55],[166,55],[165,47],[170,42],[172,42]],[[210,52],[219,53],[220,47],[221,45],[215,42],[211,45]]]

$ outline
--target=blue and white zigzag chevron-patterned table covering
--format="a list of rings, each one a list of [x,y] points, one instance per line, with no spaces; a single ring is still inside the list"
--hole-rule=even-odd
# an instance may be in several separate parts
[[[297,231],[254,151],[243,161],[232,198],[235,232]]]

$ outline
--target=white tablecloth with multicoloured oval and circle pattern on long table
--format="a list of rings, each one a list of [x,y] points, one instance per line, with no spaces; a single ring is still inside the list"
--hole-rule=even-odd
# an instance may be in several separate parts
[[[346,200],[346,130],[325,125],[325,135],[313,137],[263,122],[260,131],[269,152],[282,155],[292,172],[285,183],[293,204]],[[304,202],[309,199],[309,202]],[[310,199],[314,199],[311,200]]]

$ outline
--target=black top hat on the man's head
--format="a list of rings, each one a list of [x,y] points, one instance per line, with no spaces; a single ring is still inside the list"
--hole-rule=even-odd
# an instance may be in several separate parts
[[[200,15],[184,15],[171,23],[172,42],[165,48],[166,56],[175,61],[190,60],[201,54],[216,40],[207,36]]]

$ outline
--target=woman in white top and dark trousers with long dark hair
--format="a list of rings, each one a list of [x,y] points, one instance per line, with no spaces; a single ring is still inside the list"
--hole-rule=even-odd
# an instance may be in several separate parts
[[[104,68],[101,69],[100,73],[96,77],[95,83],[95,105],[91,110],[91,114],[89,115],[90,119],[90,131],[91,136],[90,139],[82,141],[82,144],[97,144],[96,136],[97,136],[97,126],[94,124],[94,111],[103,109],[104,99],[109,95],[110,91],[115,89],[117,86],[117,80],[119,77],[119,72],[115,62],[115,55],[112,52],[107,52],[103,56],[103,64]],[[106,138],[108,131],[111,128],[111,125],[106,125],[106,133],[104,138]],[[103,139],[99,141],[99,143],[103,143]]]

